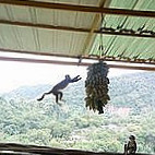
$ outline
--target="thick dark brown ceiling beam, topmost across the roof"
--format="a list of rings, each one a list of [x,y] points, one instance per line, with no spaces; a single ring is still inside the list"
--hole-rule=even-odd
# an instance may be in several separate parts
[[[87,5],[75,5],[75,4],[62,4],[40,1],[27,1],[27,0],[0,0],[0,3],[11,5],[23,5],[23,7],[35,7],[43,9],[57,9],[65,11],[80,11],[87,13],[104,13],[114,15],[131,15],[131,16],[145,16],[155,17],[155,11],[139,11],[139,10],[126,10],[126,9],[111,9],[111,8],[99,8],[99,7],[87,7]]]

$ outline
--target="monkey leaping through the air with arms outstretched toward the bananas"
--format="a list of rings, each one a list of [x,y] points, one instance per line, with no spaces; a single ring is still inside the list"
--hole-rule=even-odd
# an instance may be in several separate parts
[[[60,83],[56,84],[51,91],[44,93],[43,96],[40,98],[38,98],[37,100],[40,102],[44,99],[45,95],[49,95],[49,94],[53,94],[56,96],[56,103],[58,104],[58,100],[62,99],[63,93],[60,92],[61,90],[65,88],[70,83],[73,82],[78,82],[80,81],[82,78],[80,78],[80,75],[71,79],[70,75],[65,75],[65,79],[63,81],[61,81]],[[59,97],[60,95],[60,97]]]

